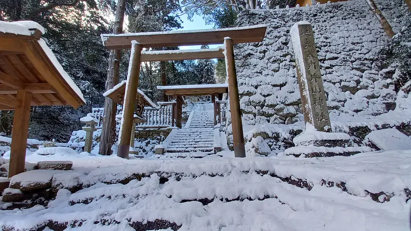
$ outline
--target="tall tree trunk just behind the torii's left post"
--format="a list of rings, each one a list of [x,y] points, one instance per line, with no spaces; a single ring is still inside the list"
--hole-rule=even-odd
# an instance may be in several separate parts
[[[123,31],[125,12],[125,0],[118,0],[116,18],[113,33],[119,34]],[[108,73],[106,79],[106,90],[113,88],[119,82],[121,50],[110,50],[108,59]],[[104,101],[104,115],[101,131],[100,150],[101,155],[111,155],[111,146],[116,140],[116,103],[108,98]]]

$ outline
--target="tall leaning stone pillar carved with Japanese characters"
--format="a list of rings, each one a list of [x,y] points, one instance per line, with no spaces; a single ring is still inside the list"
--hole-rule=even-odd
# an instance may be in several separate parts
[[[305,21],[297,22],[290,33],[304,120],[319,131],[330,131],[327,101],[311,24]]]

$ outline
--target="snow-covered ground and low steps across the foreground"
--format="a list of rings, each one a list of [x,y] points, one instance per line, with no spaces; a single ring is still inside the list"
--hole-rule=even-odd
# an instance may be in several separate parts
[[[77,222],[67,230],[149,230],[144,227],[153,224],[166,230],[409,230],[411,150],[330,158],[219,154],[179,160],[68,156],[73,170],[63,173],[79,172],[90,186],[73,194],[60,189],[46,207],[0,210],[0,227],[28,230],[53,221]],[[46,159],[65,158],[27,157]],[[141,181],[118,183],[136,174]]]

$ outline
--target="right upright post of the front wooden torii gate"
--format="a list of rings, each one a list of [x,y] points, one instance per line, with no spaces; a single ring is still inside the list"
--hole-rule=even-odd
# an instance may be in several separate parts
[[[242,134],[240,100],[238,97],[237,73],[235,71],[234,44],[233,40],[230,37],[224,38],[224,47],[226,48],[226,69],[228,74],[231,126],[233,128],[234,156],[246,157],[244,135]]]

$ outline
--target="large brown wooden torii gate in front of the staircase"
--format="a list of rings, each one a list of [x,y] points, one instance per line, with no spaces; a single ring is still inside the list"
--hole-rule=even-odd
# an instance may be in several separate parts
[[[246,151],[242,133],[237,74],[234,60],[234,44],[262,42],[266,34],[266,29],[266,26],[257,25],[211,30],[102,34],[101,37],[107,49],[132,49],[124,95],[117,156],[122,158],[128,157],[130,148],[129,135],[132,130],[141,62],[225,58],[229,84],[234,156],[245,157]],[[142,51],[143,48],[150,47],[177,47],[221,43],[223,43],[224,46],[218,49]]]

